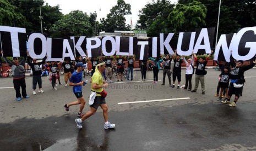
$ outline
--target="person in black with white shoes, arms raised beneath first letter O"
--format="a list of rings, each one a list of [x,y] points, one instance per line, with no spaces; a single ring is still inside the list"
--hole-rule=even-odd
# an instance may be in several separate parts
[[[32,60],[32,61],[31,61]],[[28,55],[28,65],[31,67],[32,69],[32,89],[33,89],[33,94],[36,95],[36,84],[38,83],[38,87],[39,90],[38,92],[43,92],[42,90],[42,69],[41,69],[41,65],[43,65],[45,63],[46,60],[46,56],[43,58],[43,60],[41,62],[36,62],[36,59],[32,59],[29,55]]]

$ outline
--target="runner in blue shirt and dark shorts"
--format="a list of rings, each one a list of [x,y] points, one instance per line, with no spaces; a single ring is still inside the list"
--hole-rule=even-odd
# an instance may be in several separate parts
[[[69,65],[69,64],[66,64],[66,65]],[[84,116],[83,109],[85,106],[85,99],[82,94],[82,86],[81,85],[84,84],[84,81],[82,78],[82,73],[83,73],[83,69],[84,69],[85,65],[82,62],[78,62],[76,66],[77,66],[77,70],[74,71],[74,73],[72,74],[72,76],[69,80],[69,86],[73,86],[73,92],[78,100],[74,101],[74,102],[70,102],[68,104],[64,104],[64,108],[66,109],[66,111],[69,111],[70,106],[80,104],[78,117],[83,117]]]

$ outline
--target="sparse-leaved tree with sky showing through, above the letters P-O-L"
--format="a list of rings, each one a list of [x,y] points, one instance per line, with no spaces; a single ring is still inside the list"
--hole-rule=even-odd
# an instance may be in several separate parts
[[[117,0],[117,5],[110,10],[110,14],[107,14],[106,20],[102,20],[104,21],[104,30],[106,32],[130,30],[126,25],[126,18],[124,18],[124,15],[129,14],[132,14],[130,4],[126,4],[123,0]]]

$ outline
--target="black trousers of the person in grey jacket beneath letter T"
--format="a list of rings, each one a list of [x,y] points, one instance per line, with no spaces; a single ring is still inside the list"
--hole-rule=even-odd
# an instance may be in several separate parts
[[[14,86],[14,89],[16,91],[16,98],[21,97],[20,87],[21,87],[22,96],[26,97],[26,82],[25,82],[25,78],[13,79],[13,86]]]

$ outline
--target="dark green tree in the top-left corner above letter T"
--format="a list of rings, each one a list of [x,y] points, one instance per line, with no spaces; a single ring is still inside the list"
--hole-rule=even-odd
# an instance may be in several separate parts
[[[17,7],[7,0],[0,0],[0,25],[23,27],[25,24],[26,19]]]

